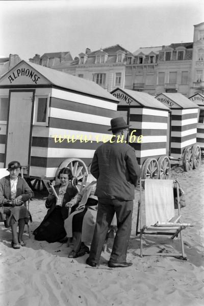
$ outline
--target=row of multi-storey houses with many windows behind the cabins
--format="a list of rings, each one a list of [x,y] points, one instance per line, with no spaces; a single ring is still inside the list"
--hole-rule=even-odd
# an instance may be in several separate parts
[[[204,22],[194,25],[193,42],[142,47],[134,53],[119,44],[72,60],[69,52],[36,55],[30,61],[94,81],[109,92],[117,87],[151,95],[204,94]]]

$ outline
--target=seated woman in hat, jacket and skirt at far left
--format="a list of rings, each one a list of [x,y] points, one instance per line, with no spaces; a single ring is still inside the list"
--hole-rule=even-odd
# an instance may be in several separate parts
[[[25,246],[22,240],[22,234],[25,224],[29,221],[29,212],[23,202],[34,196],[33,191],[22,177],[18,176],[21,165],[17,161],[10,162],[8,171],[10,174],[0,180],[0,205],[4,206],[6,215],[5,226],[10,227],[12,231],[12,247],[19,249]],[[17,235],[17,225],[19,231]]]

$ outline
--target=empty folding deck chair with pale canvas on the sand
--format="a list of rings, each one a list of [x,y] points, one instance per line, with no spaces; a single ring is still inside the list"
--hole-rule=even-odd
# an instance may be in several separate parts
[[[144,184],[144,194],[142,192],[142,183]],[[175,216],[173,186],[176,185],[178,215]],[[143,220],[143,211],[145,209],[145,221]],[[140,232],[138,232],[140,218]],[[140,234],[140,257],[142,256],[171,256],[186,260],[184,252],[184,243],[182,230],[188,223],[179,223],[181,218],[179,183],[173,180],[142,180],[140,179],[140,200],[138,203],[138,219],[136,236]],[[142,224],[143,223],[143,224]],[[180,234],[181,253],[148,253],[144,254],[142,249],[143,235],[170,235],[174,239]]]

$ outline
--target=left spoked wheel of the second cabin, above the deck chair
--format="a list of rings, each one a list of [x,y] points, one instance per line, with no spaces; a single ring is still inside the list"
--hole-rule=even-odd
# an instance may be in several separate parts
[[[148,158],[142,165],[142,179],[159,179],[159,164],[155,158]]]

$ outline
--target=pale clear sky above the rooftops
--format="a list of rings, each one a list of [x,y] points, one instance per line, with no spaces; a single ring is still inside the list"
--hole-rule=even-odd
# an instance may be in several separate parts
[[[192,42],[203,0],[0,1],[0,56]]]

